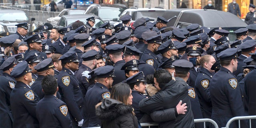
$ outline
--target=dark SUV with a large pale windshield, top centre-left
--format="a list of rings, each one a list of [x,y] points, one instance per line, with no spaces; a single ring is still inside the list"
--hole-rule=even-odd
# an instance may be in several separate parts
[[[91,4],[84,14],[94,14],[113,25],[117,22],[113,22],[113,18],[119,18],[126,9],[124,4]]]

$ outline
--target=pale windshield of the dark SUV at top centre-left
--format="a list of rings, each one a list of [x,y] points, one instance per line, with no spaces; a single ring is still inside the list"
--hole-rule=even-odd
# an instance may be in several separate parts
[[[113,18],[119,18],[124,10],[124,8],[100,8],[98,11],[98,16],[103,20],[112,20]]]

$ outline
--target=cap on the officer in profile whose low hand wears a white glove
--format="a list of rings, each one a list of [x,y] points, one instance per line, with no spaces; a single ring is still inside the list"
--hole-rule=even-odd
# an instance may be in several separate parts
[[[66,52],[65,54],[63,54],[60,59],[61,63],[68,63],[68,62],[79,62],[78,60],[78,56],[76,54],[76,52],[74,51],[70,51],[70,52]]]

